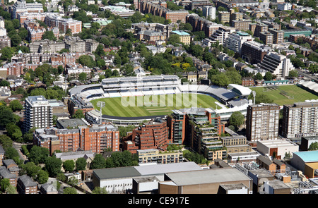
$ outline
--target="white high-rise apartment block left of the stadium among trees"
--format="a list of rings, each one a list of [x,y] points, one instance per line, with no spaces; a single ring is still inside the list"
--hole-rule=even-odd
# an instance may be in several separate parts
[[[53,125],[53,109],[44,96],[29,96],[24,104],[25,131],[30,128],[47,128]]]

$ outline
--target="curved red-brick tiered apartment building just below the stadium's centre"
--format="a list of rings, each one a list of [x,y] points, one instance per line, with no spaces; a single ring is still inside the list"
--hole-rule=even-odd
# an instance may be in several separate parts
[[[138,149],[167,149],[168,127],[167,121],[155,118],[134,129],[131,135],[124,138],[123,150],[132,154]]]

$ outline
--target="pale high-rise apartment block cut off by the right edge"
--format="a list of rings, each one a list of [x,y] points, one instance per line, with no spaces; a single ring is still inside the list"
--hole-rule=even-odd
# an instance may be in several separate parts
[[[286,138],[318,135],[318,102],[283,106],[282,135]]]

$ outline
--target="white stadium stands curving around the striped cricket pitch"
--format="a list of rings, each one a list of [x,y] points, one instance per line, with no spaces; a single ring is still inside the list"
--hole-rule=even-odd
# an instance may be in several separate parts
[[[234,111],[246,115],[249,104],[247,97],[251,90],[241,85],[229,85],[228,89],[213,85],[182,85],[177,75],[148,75],[143,77],[106,78],[100,84],[79,85],[71,88],[69,94],[78,108],[93,108],[91,101],[100,98],[133,97],[160,94],[206,94],[218,100],[220,109],[213,109],[221,120],[227,120]],[[118,117],[103,114],[94,109],[88,111],[86,119],[90,123],[111,121],[117,125],[138,125],[141,121],[162,116]]]

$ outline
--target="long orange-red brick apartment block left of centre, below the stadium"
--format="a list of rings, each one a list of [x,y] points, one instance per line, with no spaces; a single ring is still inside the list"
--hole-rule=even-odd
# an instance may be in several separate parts
[[[119,130],[112,125],[78,127],[73,129],[40,128],[33,133],[34,144],[49,149],[50,154],[56,150],[75,152],[91,150],[100,154],[110,148],[119,151]]]

